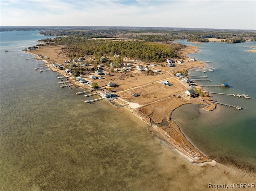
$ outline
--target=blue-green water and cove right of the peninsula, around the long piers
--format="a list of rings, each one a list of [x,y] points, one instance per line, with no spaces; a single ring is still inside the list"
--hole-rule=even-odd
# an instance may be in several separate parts
[[[256,53],[248,50],[252,50],[251,47],[255,47],[256,42],[179,42],[198,46],[198,53],[188,56],[199,61],[210,61],[212,63],[206,63],[206,66],[216,68],[213,72],[206,73],[189,71],[190,75],[207,75],[207,79],[212,79],[211,82],[200,81],[198,84],[230,85],[230,88],[204,87],[206,91],[245,94],[250,95],[251,99],[210,94],[212,100],[242,106],[242,110],[217,105],[216,110],[207,112],[200,104],[187,104],[174,110],[172,120],[178,124],[187,138],[211,159],[255,172]]]

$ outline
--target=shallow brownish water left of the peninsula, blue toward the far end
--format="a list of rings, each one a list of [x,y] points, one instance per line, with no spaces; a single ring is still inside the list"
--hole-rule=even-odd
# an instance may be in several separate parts
[[[1,36],[1,190],[169,190],[176,154],[125,108],[86,104],[21,49],[38,31]],[[4,50],[8,50],[5,53]],[[173,159],[172,159],[173,158]],[[182,160],[184,163],[184,160]],[[186,161],[185,161],[186,162]],[[161,178],[159,178],[161,177]]]

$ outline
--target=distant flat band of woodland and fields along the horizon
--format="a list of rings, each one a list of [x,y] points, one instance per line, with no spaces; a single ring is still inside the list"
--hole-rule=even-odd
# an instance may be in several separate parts
[[[90,38],[121,37],[144,41],[167,42],[176,39],[204,42],[206,38],[226,39],[226,42],[244,42],[248,39],[256,41],[256,31],[253,30],[215,30],[215,29],[186,29],[186,28],[124,28],[124,27],[88,27],[51,29],[40,32],[44,35],[81,35]]]

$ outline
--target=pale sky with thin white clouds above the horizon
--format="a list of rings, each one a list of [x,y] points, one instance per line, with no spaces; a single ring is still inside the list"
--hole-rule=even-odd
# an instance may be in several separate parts
[[[0,26],[256,30],[256,0],[0,0]]]

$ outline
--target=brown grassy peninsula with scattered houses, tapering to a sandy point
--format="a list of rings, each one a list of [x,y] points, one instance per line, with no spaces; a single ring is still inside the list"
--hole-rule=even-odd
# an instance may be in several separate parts
[[[129,41],[129,39],[117,38],[108,41],[117,40]],[[170,43],[170,47],[172,44]],[[145,61],[145,59],[138,61],[133,57],[128,58],[119,55],[103,56],[100,54],[98,58],[98,55],[94,53],[80,57],[70,51],[69,45],[59,45],[47,40],[37,48],[27,49],[27,52],[44,61],[52,71],[66,76],[68,81],[76,80],[76,76],[79,76],[100,89],[110,91],[115,97],[115,102],[126,104],[131,112],[149,124],[150,130],[156,136],[183,153],[191,162],[215,165],[216,162],[193,146],[182,134],[178,125],[170,119],[172,111],[183,104],[204,104],[206,110],[213,110],[216,106],[207,95],[196,96],[194,94],[191,96],[185,93],[191,89],[190,85],[182,78],[176,77],[175,74],[177,72],[186,73],[188,69],[193,67],[204,67],[204,63],[186,56],[189,53],[196,53],[198,47],[178,46],[174,57],[169,57],[169,61],[172,60],[174,63],[171,64],[175,67],[166,61],[152,62]],[[79,52],[79,50],[77,51]],[[122,59],[119,60],[118,58]],[[104,62],[104,59],[111,61],[107,63]],[[60,65],[63,69],[57,67]],[[140,67],[143,70],[139,70]],[[79,74],[74,75],[75,72],[72,73],[72,71],[79,71]],[[96,78],[92,79],[92,75]],[[167,82],[170,85],[162,82]],[[114,83],[115,86],[109,87],[109,83]],[[87,90],[92,89],[88,83],[79,83],[77,80],[72,85]],[[199,86],[195,86],[195,88],[197,92],[202,91]],[[138,96],[134,96],[134,94]],[[162,125],[162,122],[165,122],[165,125]]]

